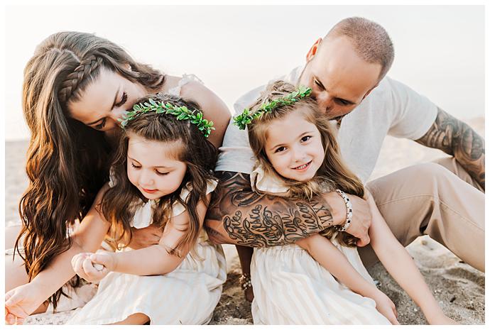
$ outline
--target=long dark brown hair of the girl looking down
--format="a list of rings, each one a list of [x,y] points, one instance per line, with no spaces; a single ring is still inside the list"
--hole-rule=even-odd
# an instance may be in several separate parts
[[[169,102],[174,106],[187,106],[187,109],[191,110],[197,109],[197,104],[169,94],[151,95],[138,100],[137,103],[143,104],[148,102],[148,99],[163,103]],[[114,185],[102,197],[102,213],[111,223],[109,230],[111,246],[118,248],[126,246],[131,240],[131,220],[134,213],[138,207],[148,202],[139,189],[129,181],[127,175],[129,133],[134,133],[148,141],[181,142],[178,144],[181,145],[178,150],[178,160],[187,165],[187,171],[175,192],[158,199],[153,207],[152,220],[154,224],[158,224],[163,229],[171,217],[173,203],[178,201],[184,205],[189,213],[190,225],[177,246],[168,247],[170,248],[169,253],[183,256],[180,253],[181,248],[192,245],[199,236],[200,221],[197,204],[200,200],[206,200],[207,183],[210,180],[217,180],[212,174],[217,160],[217,149],[196,125],[188,120],[178,120],[171,114],[147,112],[128,121],[111,167]],[[187,200],[180,198],[180,192],[185,187],[190,189]]]

